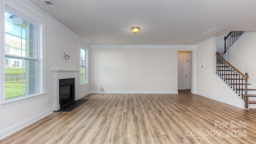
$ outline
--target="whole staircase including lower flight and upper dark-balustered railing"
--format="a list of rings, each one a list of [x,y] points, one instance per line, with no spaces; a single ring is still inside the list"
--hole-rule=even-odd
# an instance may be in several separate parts
[[[224,37],[224,54],[232,49],[232,45],[241,37],[245,31],[231,31]],[[256,108],[256,86],[248,84],[248,73],[243,74],[237,68],[228,63],[216,53],[216,74],[228,85],[230,88],[244,100],[244,108]],[[253,88],[251,88],[253,87]]]

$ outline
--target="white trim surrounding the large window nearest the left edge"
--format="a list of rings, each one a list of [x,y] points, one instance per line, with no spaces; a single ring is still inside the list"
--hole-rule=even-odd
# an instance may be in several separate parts
[[[10,107],[12,105],[17,105],[19,103],[24,103],[27,101],[32,101],[34,99],[38,99],[41,97],[44,97],[46,95],[45,93],[45,50],[44,50],[44,35],[45,35],[45,24],[39,24],[37,22],[31,21],[30,18],[24,18],[24,16],[20,16],[19,12],[14,10],[11,6],[6,6],[4,4],[4,1],[1,1],[1,8],[0,8],[0,22],[4,23],[5,15],[4,12],[7,10],[8,12],[11,12],[15,14],[16,16],[25,19],[26,21],[35,24],[38,28],[38,93],[32,94],[32,95],[25,95],[22,97],[16,97],[12,99],[5,99],[5,87],[4,87],[4,81],[5,81],[5,72],[2,70],[2,68],[5,68],[5,49],[0,49],[0,56],[2,58],[0,66],[0,109],[5,107]],[[23,14],[22,14],[23,15]],[[0,47],[4,48],[4,42],[5,42],[5,25],[3,24],[2,27],[0,27],[0,42],[2,45]]]

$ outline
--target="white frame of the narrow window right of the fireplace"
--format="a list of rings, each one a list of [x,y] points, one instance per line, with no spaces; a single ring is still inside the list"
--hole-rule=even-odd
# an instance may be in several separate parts
[[[84,58],[85,58],[85,62],[84,65],[81,65],[81,51],[84,50]],[[80,85],[84,85],[84,84],[88,84],[88,49],[86,49],[85,47],[81,47],[80,46]],[[81,67],[84,67],[84,82],[81,82]]]

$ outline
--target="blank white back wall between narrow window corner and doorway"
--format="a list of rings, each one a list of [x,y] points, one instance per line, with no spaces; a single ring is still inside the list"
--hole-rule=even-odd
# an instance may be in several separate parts
[[[101,85],[105,92],[178,92],[176,49],[94,48],[90,61],[91,92],[100,92]]]

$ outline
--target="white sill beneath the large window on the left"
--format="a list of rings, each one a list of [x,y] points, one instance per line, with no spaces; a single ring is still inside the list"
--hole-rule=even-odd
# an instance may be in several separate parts
[[[34,99],[39,99],[45,96],[46,93],[38,93],[35,95],[29,95],[27,97],[20,97],[17,99],[8,99],[4,103],[0,104],[0,109],[6,108],[6,107],[11,107],[13,105],[18,105],[20,103],[25,103],[27,101],[32,101]]]

